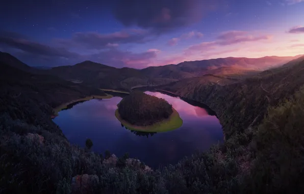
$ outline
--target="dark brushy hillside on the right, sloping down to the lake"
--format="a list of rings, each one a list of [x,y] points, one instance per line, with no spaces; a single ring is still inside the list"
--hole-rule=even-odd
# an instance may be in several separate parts
[[[236,177],[244,177],[241,193],[286,193],[303,190],[296,183],[304,166],[298,157],[304,146],[303,74],[301,57],[237,82],[190,80],[159,89],[206,103],[217,113],[229,151],[225,161],[235,161]]]

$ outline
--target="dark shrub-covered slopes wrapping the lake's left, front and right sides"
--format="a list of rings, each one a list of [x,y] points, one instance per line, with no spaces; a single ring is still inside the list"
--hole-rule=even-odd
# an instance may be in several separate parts
[[[101,90],[0,64],[0,193],[302,193],[303,70],[304,61],[241,83],[164,88],[213,108],[225,142],[146,171],[72,146],[50,119],[54,107]]]

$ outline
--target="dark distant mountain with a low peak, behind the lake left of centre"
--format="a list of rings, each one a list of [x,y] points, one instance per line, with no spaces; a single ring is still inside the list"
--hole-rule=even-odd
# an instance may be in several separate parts
[[[92,61],[84,61],[73,66],[59,66],[50,69],[49,74],[66,80],[81,80],[84,84],[103,89],[128,91],[132,87],[166,84],[174,79],[149,78],[138,69],[115,68]]]

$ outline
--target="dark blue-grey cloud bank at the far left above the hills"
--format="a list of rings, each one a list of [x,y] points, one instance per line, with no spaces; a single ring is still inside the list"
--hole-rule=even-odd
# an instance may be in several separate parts
[[[65,58],[78,56],[78,54],[71,53],[65,48],[54,48],[45,44],[33,42],[31,40],[25,39],[22,35],[18,35],[16,33],[0,33],[0,44],[5,44],[13,48],[18,48],[19,50],[22,50],[24,52],[37,55]]]

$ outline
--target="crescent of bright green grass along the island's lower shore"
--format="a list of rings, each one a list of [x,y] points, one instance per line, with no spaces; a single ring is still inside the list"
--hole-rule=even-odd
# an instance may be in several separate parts
[[[174,129],[178,129],[183,125],[183,120],[180,117],[178,111],[176,111],[174,108],[172,109],[173,109],[173,113],[168,119],[165,119],[162,122],[150,126],[136,126],[126,122],[126,120],[123,120],[120,117],[118,113],[118,109],[115,111],[115,116],[123,126],[125,126],[130,130],[141,131],[141,132],[166,132],[166,131],[172,131]]]

